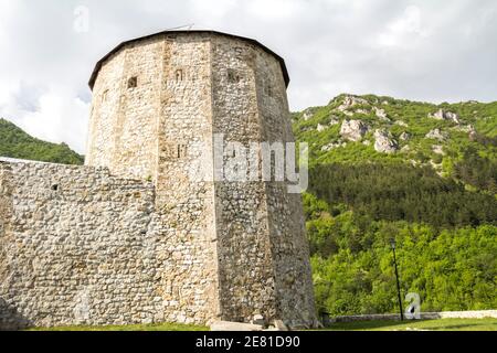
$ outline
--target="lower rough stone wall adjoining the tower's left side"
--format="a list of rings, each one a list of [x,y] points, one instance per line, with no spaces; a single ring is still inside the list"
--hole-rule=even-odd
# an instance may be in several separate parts
[[[165,320],[150,183],[0,162],[0,189],[1,329]]]

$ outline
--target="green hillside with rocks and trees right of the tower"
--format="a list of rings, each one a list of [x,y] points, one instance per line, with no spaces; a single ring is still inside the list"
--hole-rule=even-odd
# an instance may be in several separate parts
[[[304,196],[319,311],[497,308],[497,103],[340,95],[293,114],[310,148]]]

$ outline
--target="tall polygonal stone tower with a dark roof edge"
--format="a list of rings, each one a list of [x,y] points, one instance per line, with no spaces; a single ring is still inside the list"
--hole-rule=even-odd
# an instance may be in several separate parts
[[[166,321],[315,322],[299,194],[285,182],[192,180],[225,141],[294,141],[284,61],[254,40],[170,31],[119,44],[92,75],[86,165],[155,185],[148,236]]]

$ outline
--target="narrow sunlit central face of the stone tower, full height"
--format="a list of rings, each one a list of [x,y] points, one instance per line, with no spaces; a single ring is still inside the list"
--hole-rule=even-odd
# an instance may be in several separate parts
[[[212,181],[197,180],[212,159],[211,44],[204,35],[163,39],[157,207],[173,256],[165,264],[168,321],[219,317]],[[207,168],[212,180],[212,167]],[[209,180],[208,179],[208,180]]]

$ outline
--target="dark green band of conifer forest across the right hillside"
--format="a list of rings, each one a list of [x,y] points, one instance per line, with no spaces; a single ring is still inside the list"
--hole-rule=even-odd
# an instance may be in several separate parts
[[[427,167],[321,164],[310,171],[309,179],[310,192],[328,204],[347,204],[378,221],[403,220],[434,227],[497,224],[496,197],[466,191],[464,184],[441,178]]]

